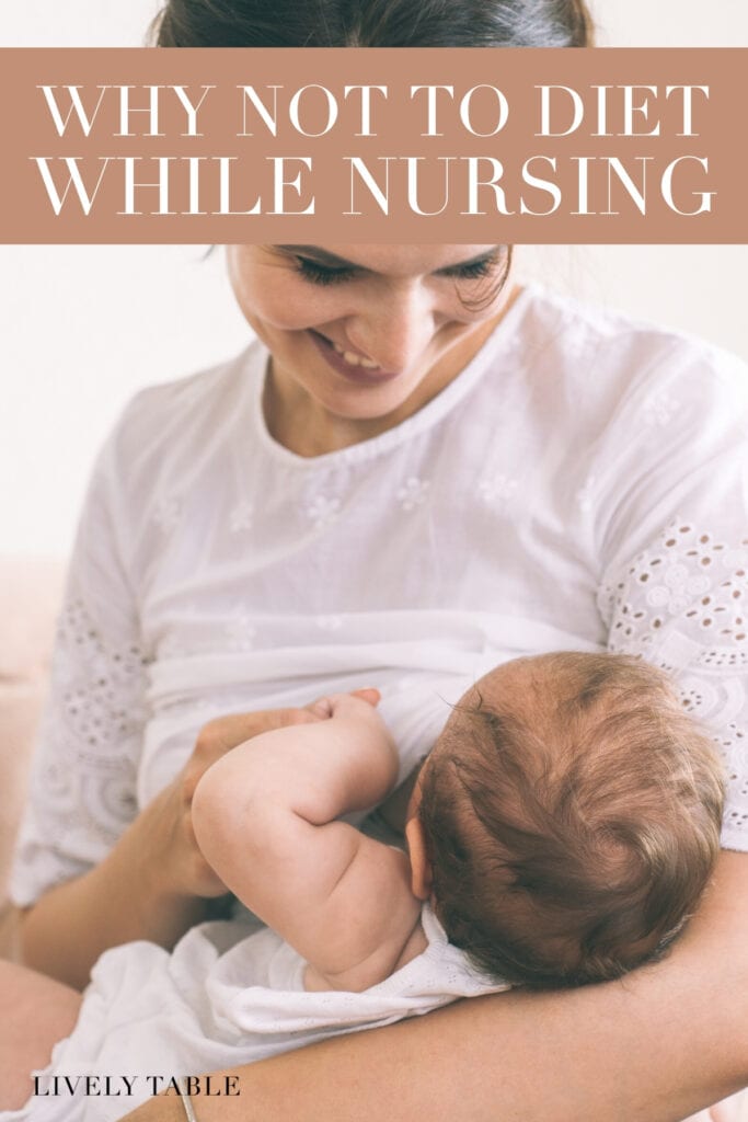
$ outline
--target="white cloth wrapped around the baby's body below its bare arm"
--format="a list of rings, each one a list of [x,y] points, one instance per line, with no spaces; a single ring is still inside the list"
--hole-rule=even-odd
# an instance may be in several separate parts
[[[116,947],[96,964],[73,1032],[37,1075],[39,1094],[0,1119],[114,1122],[174,1076],[238,1067],[506,988],[447,941],[427,905],[422,919],[426,950],[364,993],[306,992],[301,956],[275,931],[246,934],[239,921],[202,923],[172,954],[150,942]]]

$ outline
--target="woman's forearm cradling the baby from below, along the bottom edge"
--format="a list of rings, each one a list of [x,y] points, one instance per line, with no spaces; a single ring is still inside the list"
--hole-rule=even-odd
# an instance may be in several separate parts
[[[748,856],[724,853],[663,962],[563,993],[463,1001],[240,1069],[200,1122],[676,1122],[748,1084]],[[177,1122],[151,1100],[127,1122]]]

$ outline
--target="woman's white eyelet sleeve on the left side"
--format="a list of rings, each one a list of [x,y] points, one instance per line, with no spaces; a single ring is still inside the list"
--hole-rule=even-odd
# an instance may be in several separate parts
[[[10,892],[19,907],[98,864],[136,816],[146,660],[120,548],[110,441],[81,517]]]

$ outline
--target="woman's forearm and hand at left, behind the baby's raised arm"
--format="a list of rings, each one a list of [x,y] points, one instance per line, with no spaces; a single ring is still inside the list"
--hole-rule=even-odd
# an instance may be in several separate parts
[[[173,946],[205,918],[225,888],[192,829],[192,797],[203,773],[260,733],[318,718],[306,709],[236,714],[206,725],[177,779],[145,808],[104,859],[47,892],[21,921],[24,964],[77,988],[102,951],[132,939]]]

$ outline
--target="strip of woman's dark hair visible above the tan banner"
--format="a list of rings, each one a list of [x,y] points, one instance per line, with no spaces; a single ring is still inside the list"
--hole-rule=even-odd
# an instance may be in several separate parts
[[[589,47],[584,0],[167,0],[159,47]]]

